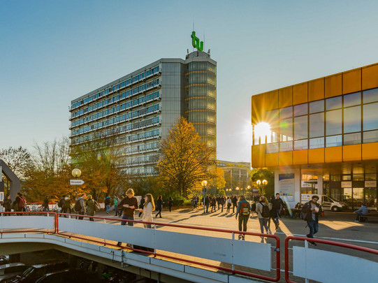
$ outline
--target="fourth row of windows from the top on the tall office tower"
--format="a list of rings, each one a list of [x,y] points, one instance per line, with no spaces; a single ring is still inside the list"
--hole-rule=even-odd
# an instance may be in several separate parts
[[[124,115],[119,115],[116,117],[112,117],[110,119],[105,119],[101,122],[91,124],[89,126],[83,126],[80,129],[75,129],[71,131],[72,136],[78,135],[80,133],[85,133],[87,131],[94,131],[96,129],[102,128],[103,126],[110,126],[112,124],[117,124],[119,122],[124,122],[128,119],[134,119],[136,117],[139,117],[141,115],[148,115],[150,113],[154,113],[156,111],[160,110],[159,103],[154,104],[152,106],[149,106],[147,108],[140,108],[136,111],[126,113]],[[159,118],[158,118],[159,119]]]

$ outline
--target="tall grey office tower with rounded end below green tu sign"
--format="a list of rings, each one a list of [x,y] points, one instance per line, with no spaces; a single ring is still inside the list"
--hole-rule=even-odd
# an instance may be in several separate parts
[[[71,101],[71,146],[115,137],[125,173],[154,175],[159,141],[180,117],[216,149],[216,101],[217,62],[210,54],[160,59]]]

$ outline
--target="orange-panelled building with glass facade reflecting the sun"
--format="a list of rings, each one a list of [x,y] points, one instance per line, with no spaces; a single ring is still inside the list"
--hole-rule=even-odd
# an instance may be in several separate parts
[[[300,194],[377,209],[378,64],[252,96],[252,167]]]

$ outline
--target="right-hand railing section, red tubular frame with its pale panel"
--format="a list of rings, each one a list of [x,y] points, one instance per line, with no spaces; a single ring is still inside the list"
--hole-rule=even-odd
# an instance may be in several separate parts
[[[301,240],[305,242],[305,247],[294,246],[292,248],[292,272],[289,271],[289,249],[291,249],[289,248],[289,240]],[[367,252],[378,256],[377,249],[359,247],[342,242],[289,236],[285,239],[286,282],[295,283],[289,279],[289,273],[305,278],[306,282],[308,282],[307,280],[315,280],[317,282],[372,282],[375,281],[372,278],[378,277],[378,258],[375,258],[375,261],[370,261],[357,256],[341,254],[340,252],[329,252],[319,249],[319,247],[317,249],[309,249],[309,241]],[[335,272],[336,270],[337,272]]]

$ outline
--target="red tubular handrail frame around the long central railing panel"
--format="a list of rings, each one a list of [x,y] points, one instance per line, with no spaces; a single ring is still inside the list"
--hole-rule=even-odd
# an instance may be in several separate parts
[[[240,274],[240,275],[256,277],[256,278],[259,278],[261,280],[268,280],[268,281],[272,281],[272,282],[277,282],[277,281],[279,281],[279,279],[281,277],[281,267],[280,267],[281,263],[280,263],[280,252],[279,252],[280,243],[279,243],[279,238],[277,237],[277,235],[243,232],[243,231],[234,231],[234,230],[217,229],[217,228],[198,227],[198,226],[189,226],[189,225],[182,225],[182,224],[143,222],[143,221],[139,221],[139,220],[114,219],[114,218],[110,218],[110,217],[57,213],[57,232],[56,232],[57,234],[64,235],[64,236],[67,236],[67,237],[70,237],[70,238],[79,238],[79,239],[82,239],[82,240],[89,240],[89,241],[93,241],[93,242],[98,242],[98,243],[101,243],[102,245],[111,245],[111,246],[115,246],[115,247],[117,245],[113,245],[113,244],[110,244],[110,243],[101,242],[101,241],[97,241],[97,240],[90,240],[90,239],[82,238],[82,237],[75,236],[75,235],[67,235],[65,233],[59,233],[59,215],[69,215],[71,217],[88,217],[88,218],[90,217],[90,218],[94,218],[94,219],[106,219],[106,220],[112,220],[112,221],[116,221],[116,222],[119,222],[119,221],[120,222],[133,222],[133,223],[140,223],[140,224],[152,224],[152,225],[157,225],[157,226],[170,226],[170,227],[176,227],[176,228],[188,228],[188,229],[196,229],[196,230],[202,230],[202,231],[213,231],[213,232],[231,233],[231,234],[234,233],[234,234],[252,235],[252,236],[259,236],[259,237],[263,236],[263,237],[267,237],[267,238],[274,238],[276,240],[276,247],[275,247],[275,252],[276,252],[276,268],[275,268],[276,269],[276,277],[275,278],[264,276],[264,275],[258,275],[258,274],[254,274],[254,273],[247,273],[247,272],[242,271],[242,270],[233,270],[231,268],[225,268],[225,267],[222,267],[222,266],[214,266],[212,264],[207,264],[207,263],[198,263],[197,261],[190,261],[188,259],[182,259],[182,258],[178,258],[178,257],[175,257],[175,256],[168,256],[166,254],[159,254],[159,253],[156,253],[156,252],[147,252],[147,251],[143,251],[143,250],[140,250],[140,249],[134,249],[133,247],[122,246],[122,248],[131,249],[131,250],[136,251],[136,252],[143,252],[145,254],[153,254],[154,256],[161,256],[161,257],[165,257],[167,259],[175,259],[177,261],[184,261],[184,262],[187,262],[187,263],[195,263],[199,266],[205,266],[205,267],[209,267],[209,268],[224,270],[224,271],[228,271],[228,272],[233,273],[233,274],[237,273],[237,274]]]

